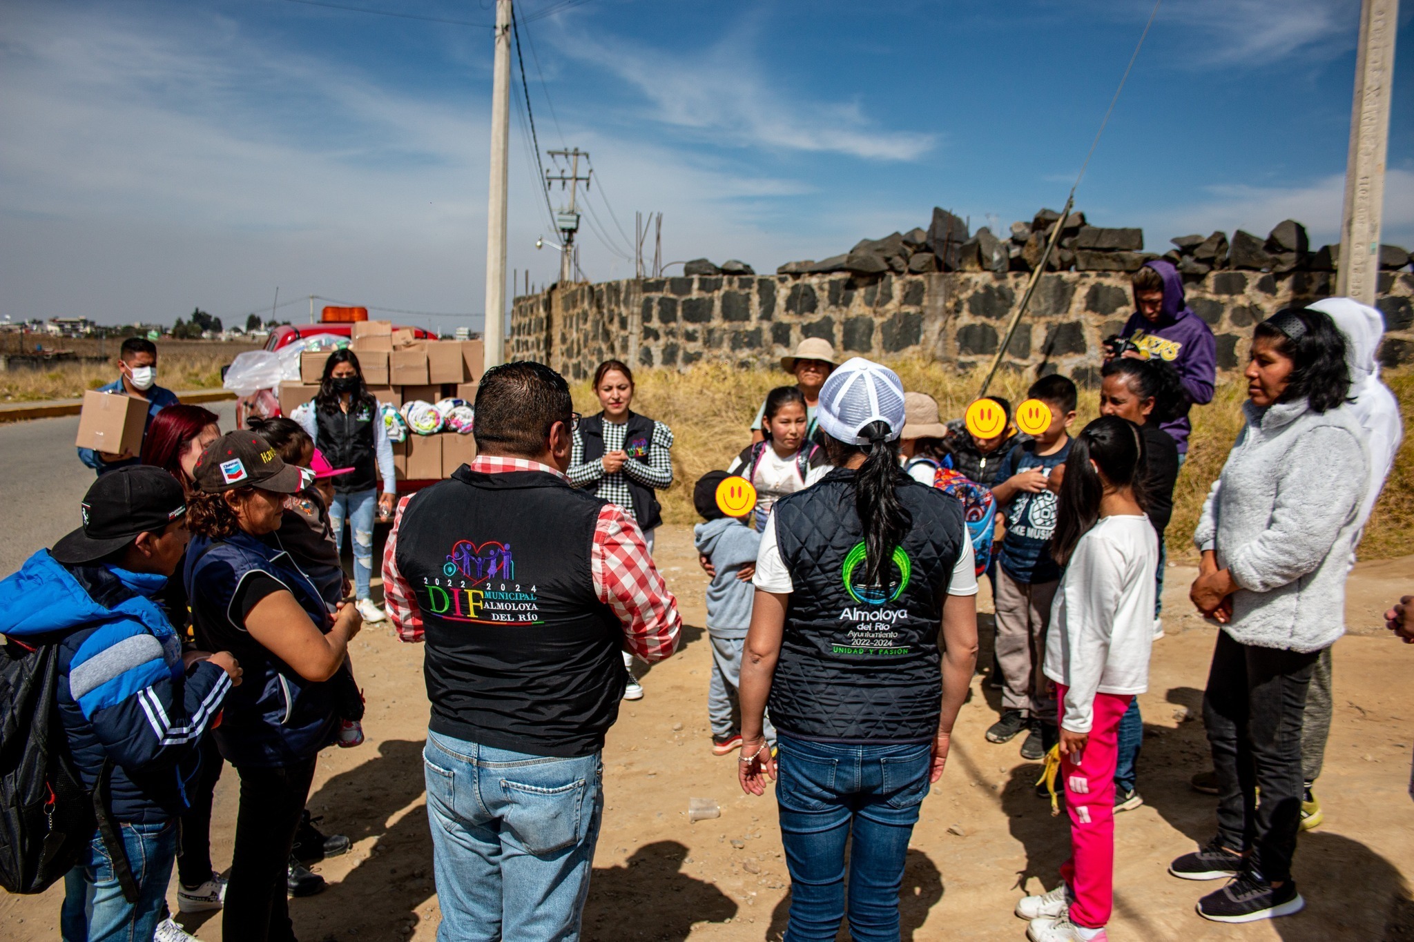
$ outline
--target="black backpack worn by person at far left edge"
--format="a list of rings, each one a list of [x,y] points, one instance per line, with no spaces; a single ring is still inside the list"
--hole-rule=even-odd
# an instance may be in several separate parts
[[[48,890],[98,828],[123,895],[136,902],[137,881],[107,812],[112,760],[89,794],[69,758],[58,698],[64,634],[31,638],[33,647],[7,638],[0,654],[0,887]]]

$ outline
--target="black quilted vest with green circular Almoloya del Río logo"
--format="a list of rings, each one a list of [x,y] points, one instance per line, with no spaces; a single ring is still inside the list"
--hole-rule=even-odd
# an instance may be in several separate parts
[[[771,685],[771,722],[800,739],[923,743],[942,709],[939,631],[962,552],[962,504],[899,475],[913,517],[888,586],[865,586],[854,472],[776,501],[776,544],[795,592]]]

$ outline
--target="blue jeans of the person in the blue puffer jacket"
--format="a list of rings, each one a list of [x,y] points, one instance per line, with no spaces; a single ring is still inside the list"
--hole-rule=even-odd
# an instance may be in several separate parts
[[[158,825],[119,822],[127,866],[137,881],[137,904],[123,898],[113,859],[93,833],[88,853],[64,874],[59,932],[64,942],[151,942],[167,902],[177,860],[177,821]]]

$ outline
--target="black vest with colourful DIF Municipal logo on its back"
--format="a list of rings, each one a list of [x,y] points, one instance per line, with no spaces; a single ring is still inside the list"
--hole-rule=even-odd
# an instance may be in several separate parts
[[[546,472],[472,472],[407,503],[396,559],[426,630],[434,733],[534,756],[604,747],[624,628],[594,590],[605,501]]]

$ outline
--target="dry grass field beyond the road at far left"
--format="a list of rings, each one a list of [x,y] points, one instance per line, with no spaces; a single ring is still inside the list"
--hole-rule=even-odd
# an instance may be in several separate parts
[[[69,342],[72,343],[72,342]],[[110,342],[116,350],[116,342]],[[240,343],[164,340],[158,346],[157,381],[170,390],[206,390],[221,386],[221,367],[245,350]],[[38,403],[69,400],[85,390],[112,383],[117,367],[112,363],[55,363],[52,369],[13,369],[0,373],[0,401]]]

